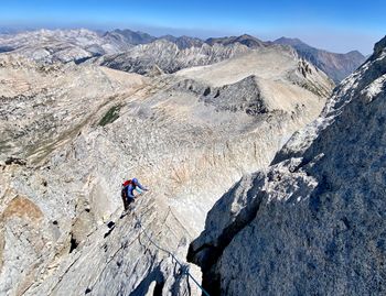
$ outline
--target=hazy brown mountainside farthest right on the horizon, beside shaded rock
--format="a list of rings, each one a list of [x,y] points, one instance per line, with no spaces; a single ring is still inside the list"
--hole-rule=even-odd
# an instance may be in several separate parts
[[[357,51],[346,54],[330,53],[312,47],[299,39],[281,37],[274,43],[292,46],[301,57],[325,72],[336,84],[352,74],[366,59]]]

